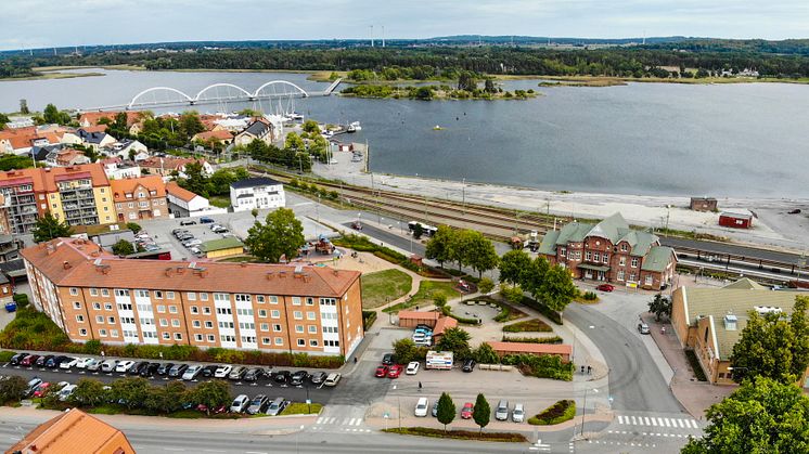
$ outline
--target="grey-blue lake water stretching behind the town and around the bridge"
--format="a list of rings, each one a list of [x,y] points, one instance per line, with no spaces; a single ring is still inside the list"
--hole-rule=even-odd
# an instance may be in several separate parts
[[[95,69],[93,69],[95,70]],[[165,86],[191,95],[229,82],[253,91],[284,73],[104,72],[104,77],[0,82],[0,111],[126,104]],[[809,197],[809,87],[787,83],[537,87],[527,101],[309,98],[296,109],[324,122],[359,120],[344,140],[371,145],[377,172],[465,178],[545,190],[660,195]],[[196,106],[201,112],[244,105]],[[261,107],[267,108],[266,104]],[[182,107],[176,107],[181,111]],[[444,129],[433,128],[439,125]]]

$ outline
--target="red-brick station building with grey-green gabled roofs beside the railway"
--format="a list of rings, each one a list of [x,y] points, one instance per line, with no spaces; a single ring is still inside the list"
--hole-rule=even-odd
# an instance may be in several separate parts
[[[596,224],[570,222],[548,232],[539,246],[551,264],[574,278],[659,290],[671,285],[677,256],[649,232],[632,230],[615,213]]]

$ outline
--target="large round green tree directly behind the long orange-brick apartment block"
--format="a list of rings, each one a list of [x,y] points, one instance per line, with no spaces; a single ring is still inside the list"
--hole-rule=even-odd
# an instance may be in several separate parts
[[[295,258],[306,242],[304,226],[295,218],[295,212],[279,208],[267,215],[266,223],[256,221],[247,231],[244,243],[257,258],[278,263],[281,257],[286,257],[286,260]]]

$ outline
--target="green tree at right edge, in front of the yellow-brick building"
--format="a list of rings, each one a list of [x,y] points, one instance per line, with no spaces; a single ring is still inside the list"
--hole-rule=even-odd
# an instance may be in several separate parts
[[[809,327],[806,310],[809,297],[796,297],[789,317],[770,312],[748,313],[747,325],[733,346],[733,379],[762,376],[794,384],[809,365]]]

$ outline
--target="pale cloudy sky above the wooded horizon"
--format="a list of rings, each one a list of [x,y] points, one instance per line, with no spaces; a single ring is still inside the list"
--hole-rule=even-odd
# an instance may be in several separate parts
[[[301,4],[301,7],[296,7]],[[0,49],[529,35],[809,38],[809,0],[2,0]]]

